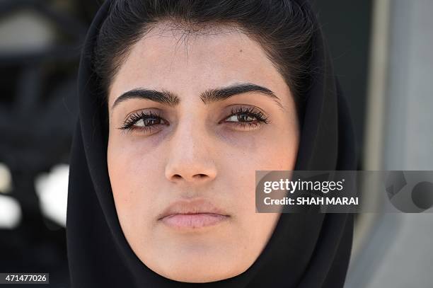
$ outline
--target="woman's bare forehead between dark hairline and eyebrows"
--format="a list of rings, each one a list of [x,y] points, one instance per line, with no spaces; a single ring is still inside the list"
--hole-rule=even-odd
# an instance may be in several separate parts
[[[189,33],[159,23],[129,50],[112,81],[110,103],[113,95],[138,87],[163,88],[182,96],[238,81],[284,84],[260,44],[241,30],[219,26]]]

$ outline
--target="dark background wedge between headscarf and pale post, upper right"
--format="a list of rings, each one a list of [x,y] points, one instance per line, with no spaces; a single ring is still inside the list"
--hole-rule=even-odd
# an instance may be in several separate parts
[[[349,101],[357,137],[358,168],[362,169],[372,0],[313,3],[330,48],[335,74]]]

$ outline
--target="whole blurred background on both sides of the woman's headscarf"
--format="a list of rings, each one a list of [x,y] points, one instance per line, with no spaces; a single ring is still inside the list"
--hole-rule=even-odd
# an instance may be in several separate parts
[[[50,287],[69,287],[76,72],[102,2],[0,0],[0,272],[50,272]],[[433,1],[313,4],[350,103],[358,169],[433,170]],[[433,214],[357,214],[345,287],[433,287],[431,239]]]

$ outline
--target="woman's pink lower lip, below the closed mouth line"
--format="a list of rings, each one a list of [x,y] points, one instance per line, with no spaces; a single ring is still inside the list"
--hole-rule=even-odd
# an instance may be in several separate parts
[[[217,225],[228,218],[226,215],[213,213],[173,214],[164,217],[161,221],[177,229],[197,229]]]

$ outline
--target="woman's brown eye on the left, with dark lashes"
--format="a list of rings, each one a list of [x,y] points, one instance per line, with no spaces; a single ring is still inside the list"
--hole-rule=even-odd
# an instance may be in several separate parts
[[[161,115],[154,113],[144,113],[140,111],[139,113],[133,113],[127,120],[125,120],[122,129],[125,131],[140,130],[141,132],[153,132],[154,129],[158,129],[161,125],[168,125],[166,120],[163,120]]]

